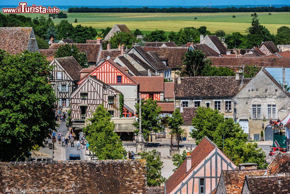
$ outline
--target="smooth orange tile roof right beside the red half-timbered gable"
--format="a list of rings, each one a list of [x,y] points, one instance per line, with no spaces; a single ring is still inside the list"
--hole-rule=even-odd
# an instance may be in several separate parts
[[[140,86],[140,92],[164,92],[164,78],[163,77],[141,77],[133,76]]]

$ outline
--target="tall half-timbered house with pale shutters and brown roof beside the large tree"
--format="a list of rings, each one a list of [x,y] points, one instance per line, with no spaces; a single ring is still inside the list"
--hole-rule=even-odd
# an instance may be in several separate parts
[[[58,99],[57,107],[68,108],[70,95],[77,88],[77,82],[80,79],[79,71],[82,67],[73,56],[55,58],[50,65],[54,67],[51,72],[53,79],[50,83]]]

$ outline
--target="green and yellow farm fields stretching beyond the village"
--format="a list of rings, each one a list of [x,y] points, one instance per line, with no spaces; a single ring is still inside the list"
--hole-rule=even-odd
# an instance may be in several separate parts
[[[113,27],[114,24],[126,24],[134,31],[136,28],[148,33],[160,29],[169,33],[180,28],[194,26],[207,26],[214,32],[218,29],[226,33],[240,32],[251,25],[251,13],[67,13],[68,21],[75,26],[81,24],[92,26],[95,29]],[[23,14],[28,17],[39,17],[40,14]],[[233,18],[232,16],[236,17]],[[265,25],[271,33],[276,34],[280,26],[290,27],[289,12],[258,13],[260,23]],[[47,16],[47,15],[46,15]],[[197,17],[197,19],[193,19]],[[77,18],[78,23],[74,23]],[[53,19],[59,23],[61,19]]]

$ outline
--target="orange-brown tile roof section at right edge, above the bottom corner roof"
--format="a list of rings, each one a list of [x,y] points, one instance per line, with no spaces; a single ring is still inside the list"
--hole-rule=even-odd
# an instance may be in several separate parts
[[[290,154],[280,153],[270,163],[267,174],[290,173]]]

